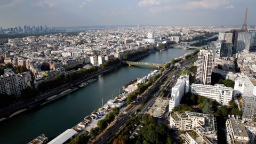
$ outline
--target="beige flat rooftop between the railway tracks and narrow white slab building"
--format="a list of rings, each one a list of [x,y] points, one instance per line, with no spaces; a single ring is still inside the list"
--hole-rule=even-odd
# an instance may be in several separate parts
[[[168,103],[169,100],[167,98],[157,98],[152,107],[148,110],[148,114],[161,118],[166,111]]]

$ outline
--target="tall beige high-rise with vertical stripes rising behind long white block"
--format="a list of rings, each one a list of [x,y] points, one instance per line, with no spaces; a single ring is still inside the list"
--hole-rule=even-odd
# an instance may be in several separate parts
[[[196,83],[211,85],[213,54],[200,50],[197,57]]]

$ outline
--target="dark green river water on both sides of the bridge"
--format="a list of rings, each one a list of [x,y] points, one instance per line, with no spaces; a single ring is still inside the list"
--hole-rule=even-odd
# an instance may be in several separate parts
[[[165,63],[192,50],[168,49],[155,52],[138,61]],[[28,143],[44,133],[52,139],[70,129],[117,95],[122,86],[132,79],[143,77],[155,70],[149,66],[122,66],[99,75],[97,81],[85,85],[65,97],[41,108],[27,111],[0,123],[0,143]]]

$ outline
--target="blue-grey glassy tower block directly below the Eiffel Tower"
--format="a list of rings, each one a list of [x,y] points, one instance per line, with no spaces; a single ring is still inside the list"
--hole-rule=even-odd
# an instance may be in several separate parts
[[[251,33],[241,32],[238,33],[236,52],[242,52],[243,50],[250,50]]]

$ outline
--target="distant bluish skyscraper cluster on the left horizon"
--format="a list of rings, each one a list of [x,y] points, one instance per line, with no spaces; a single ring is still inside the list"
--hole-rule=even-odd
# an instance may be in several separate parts
[[[14,28],[3,29],[0,27],[0,33],[4,34],[27,34],[27,33],[42,33],[55,31],[53,27],[43,26],[18,26]]]

